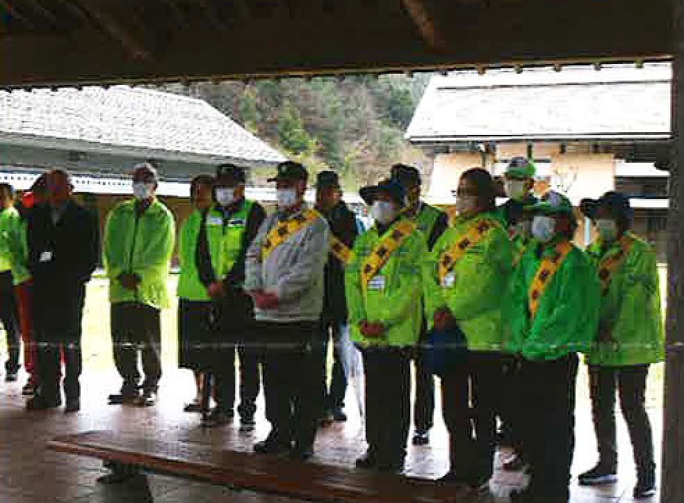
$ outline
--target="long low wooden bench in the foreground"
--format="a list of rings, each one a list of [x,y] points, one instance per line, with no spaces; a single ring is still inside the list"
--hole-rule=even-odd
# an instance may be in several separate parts
[[[429,479],[227,451],[206,444],[131,438],[111,431],[59,436],[49,442],[48,449],[99,458],[120,481],[144,470],[318,502],[453,503],[464,501],[467,492],[462,486]]]

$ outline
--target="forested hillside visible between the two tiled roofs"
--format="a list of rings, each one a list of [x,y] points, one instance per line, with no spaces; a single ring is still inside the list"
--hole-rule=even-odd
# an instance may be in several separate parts
[[[337,170],[348,189],[375,182],[395,162],[430,160],[403,135],[428,74],[258,80],[164,86],[201,97],[314,171]],[[427,174],[427,173],[426,173]],[[263,182],[266,173],[257,173]]]

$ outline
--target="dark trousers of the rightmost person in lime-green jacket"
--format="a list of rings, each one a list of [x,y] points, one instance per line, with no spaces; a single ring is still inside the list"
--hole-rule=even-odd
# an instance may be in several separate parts
[[[589,392],[592,398],[592,418],[596,443],[599,445],[599,462],[605,467],[617,468],[617,441],[615,439],[615,388],[620,394],[620,408],[627,423],[634,452],[637,473],[652,472],[653,435],[646,414],[646,376],[649,365],[601,367],[589,365]]]

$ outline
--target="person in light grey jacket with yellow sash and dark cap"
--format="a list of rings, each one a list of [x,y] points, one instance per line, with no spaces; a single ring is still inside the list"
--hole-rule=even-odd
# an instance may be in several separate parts
[[[314,454],[320,372],[312,351],[320,340],[323,268],[329,249],[325,217],[304,204],[307,170],[278,165],[278,209],[266,217],[247,250],[245,292],[254,299],[257,337],[264,344],[268,437],[259,453],[306,460]]]

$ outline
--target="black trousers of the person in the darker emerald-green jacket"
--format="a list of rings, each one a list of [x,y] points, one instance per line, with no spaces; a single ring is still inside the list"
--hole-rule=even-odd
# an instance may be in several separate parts
[[[569,499],[575,449],[576,353],[557,360],[523,360],[518,376],[521,434],[531,469],[530,491],[550,502]]]

